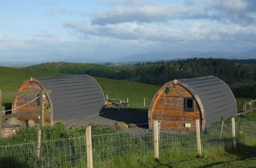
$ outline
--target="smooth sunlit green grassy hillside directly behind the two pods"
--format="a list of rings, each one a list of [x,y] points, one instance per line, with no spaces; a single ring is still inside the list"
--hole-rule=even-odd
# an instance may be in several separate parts
[[[30,69],[15,69],[0,67],[0,89],[3,93],[15,92],[19,85],[29,77],[47,77],[47,76],[63,76],[70,74],[53,73],[45,71],[36,71]],[[114,80],[108,78],[95,77],[101,86],[104,95],[109,95],[109,98],[129,98],[131,107],[142,107],[143,98],[146,98],[148,106],[154,94],[160,88],[159,86],[148,85],[140,82]],[[12,98],[3,100],[6,108],[11,107]]]

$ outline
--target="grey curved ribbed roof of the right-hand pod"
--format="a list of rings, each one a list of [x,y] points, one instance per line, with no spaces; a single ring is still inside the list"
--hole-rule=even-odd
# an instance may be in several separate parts
[[[206,123],[237,115],[237,102],[230,88],[215,76],[178,79],[190,87],[200,98]]]

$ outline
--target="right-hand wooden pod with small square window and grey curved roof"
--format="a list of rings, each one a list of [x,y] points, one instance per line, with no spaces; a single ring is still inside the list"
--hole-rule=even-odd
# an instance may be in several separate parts
[[[169,88],[170,87],[170,88]],[[154,120],[161,128],[194,127],[237,115],[237,103],[224,81],[215,76],[175,79],[165,83],[155,94],[148,110],[148,120],[153,128]]]

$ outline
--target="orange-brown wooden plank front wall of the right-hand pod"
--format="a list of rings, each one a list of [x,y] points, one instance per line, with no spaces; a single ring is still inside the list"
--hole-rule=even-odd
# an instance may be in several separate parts
[[[179,84],[172,83],[167,87],[172,88],[170,93],[164,95],[164,91],[161,90],[154,101],[150,115],[151,125],[154,123],[154,120],[158,120],[161,122],[161,128],[180,127],[184,128],[184,130],[190,129],[185,128],[185,124],[195,127],[195,121],[202,119],[197,100],[194,100],[194,111],[185,111],[184,97],[193,97],[193,95]]]

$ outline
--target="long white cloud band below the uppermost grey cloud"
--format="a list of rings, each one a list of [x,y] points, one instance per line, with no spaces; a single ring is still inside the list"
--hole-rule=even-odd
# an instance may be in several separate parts
[[[148,40],[166,42],[246,40],[245,36],[254,37],[256,26],[223,24],[218,21],[194,21],[186,25],[185,30],[172,26],[123,22],[117,24],[92,25],[75,21],[64,23],[64,26],[83,36],[111,37],[124,40]],[[248,37],[249,38],[249,37]],[[249,40],[255,41],[252,38]]]

